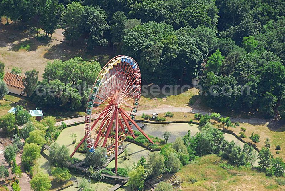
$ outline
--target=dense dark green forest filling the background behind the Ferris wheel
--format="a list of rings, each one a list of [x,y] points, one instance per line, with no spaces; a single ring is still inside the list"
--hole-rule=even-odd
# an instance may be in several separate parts
[[[284,11],[282,0],[0,0],[0,16],[23,29],[39,16],[46,36],[61,27],[71,46],[83,36],[90,54],[109,45],[133,57],[146,83],[199,77],[204,93],[211,85],[247,85],[250,95],[246,89],[244,96],[204,95],[205,101],[266,117],[274,110],[285,117]]]

